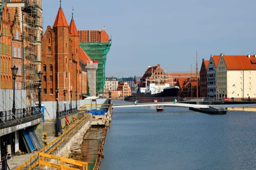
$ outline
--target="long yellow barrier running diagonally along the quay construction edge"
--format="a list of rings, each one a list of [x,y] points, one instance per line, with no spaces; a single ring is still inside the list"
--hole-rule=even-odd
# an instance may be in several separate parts
[[[76,121],[72,126],[69,127],[70,130],[63,132],[62,135],[60,135],[59,137],[54,139],[51,143],[48,143],[47,146],[45,146],[43,149],[38,151],[37,154],[31,156],[26,162],[21,164],[16,170],[23,170],[23,168],[25,168],[25,167],[26,167],[26,170],[33,170],[34,168],[36,168],[39,165],[39,159],[38,159],[39,153],[48,153],[48,154],[52,153],[54,150],[56,150],[56,148],[59,147],[59,145],[61,143],[63,143],[72,133],[74,133],[89,118],[90,118],[90,114],[87,114],[82,119],[79,119],[78,121]],[[51,148],[51,149],[49,149],[49,148]],[[72,169],[70,169],[70,170],[72,170]],[[75,169],[75,170],[77,170],[77,169]]]

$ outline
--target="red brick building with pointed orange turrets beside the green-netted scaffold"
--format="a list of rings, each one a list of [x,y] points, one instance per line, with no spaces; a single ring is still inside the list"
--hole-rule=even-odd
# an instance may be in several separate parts
[[[53,28],[47,26],[42,37],[42,101],[55,101],[58,98],[70,100],[70,91],[77,92],[77,100],[86,94],[87,72],[83,55],[79,48],[79,35],[75,21],[68,25],[61,5],[56,16]],[[55,89],[59,89],[59,97]],[[74,95],[73,95],[74,96]],[[75,97],[72,100],[76,100]]]

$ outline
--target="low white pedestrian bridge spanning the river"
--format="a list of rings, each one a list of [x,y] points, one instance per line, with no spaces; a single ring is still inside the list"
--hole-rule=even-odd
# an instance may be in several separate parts
[[[112,108],[123,107],[146,107],[146,106],[174,106],[174,107],[188,107],[190,110],[208,113],[208,114],[225,114],[226,108],[232,107],[250,107],[256,106],[256,102],[224,102],[224,104],[194,104],[186,102],[159,102],[159,103],[128,103],[112,105]]]

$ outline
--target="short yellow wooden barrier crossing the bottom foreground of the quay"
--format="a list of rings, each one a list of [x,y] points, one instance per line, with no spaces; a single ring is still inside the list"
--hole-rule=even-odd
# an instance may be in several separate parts
[[[50,158],[57,160],[58,163],[52,163],[49,161],[44,161],[44,158]],[[71,164],[72,166],[77,165],[81,167],[82,169],[76,169],[72,167],[68,167],[65,164]],[[88,163],[87,162],[82,162],[74,159],[68,159],[60,156],[55,156],[55,155],[50,155],[46,153],[39,153],[39,170],[41,166],[47,166],[51,168],[56,168],[58,170],[87,170],[88,168]]]

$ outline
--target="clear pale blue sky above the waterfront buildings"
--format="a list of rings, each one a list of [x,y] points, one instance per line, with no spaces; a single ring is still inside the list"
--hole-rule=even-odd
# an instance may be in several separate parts
[[[59,0],[42,0],[43,27]],[[142,76],[148,66],[198,72],[210,55],[256,54],[256,0],[61,0],[68,24],[103,30],[112,40],[107,77]],[[196,67],[196,65],[198,67]]]

